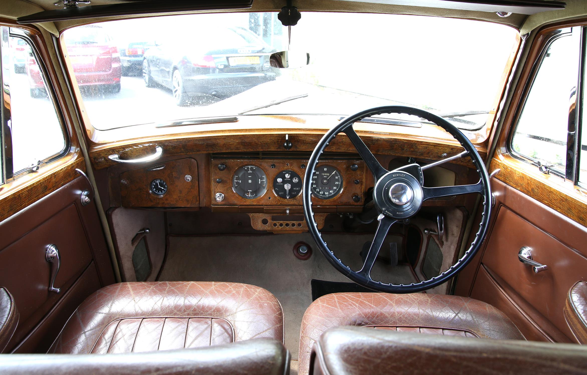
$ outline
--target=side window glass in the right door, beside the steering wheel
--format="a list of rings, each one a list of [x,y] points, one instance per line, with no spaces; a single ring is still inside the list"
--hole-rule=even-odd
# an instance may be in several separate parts
[[[512,150],[565,176],[570,103],[579,70],[579,28],[563,29],[548,46],[512,138]],[[583,142],[584,143],[584,142]]]

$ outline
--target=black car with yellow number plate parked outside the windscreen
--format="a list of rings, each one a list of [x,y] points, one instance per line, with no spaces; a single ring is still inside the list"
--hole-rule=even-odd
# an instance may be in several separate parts
[[[230,97],[279,74],[269,64],[275,50],[245,28],[190,30],[155,44],[144,54],[145,85],[170,88],[177,105],[197,103],[198,94]]]

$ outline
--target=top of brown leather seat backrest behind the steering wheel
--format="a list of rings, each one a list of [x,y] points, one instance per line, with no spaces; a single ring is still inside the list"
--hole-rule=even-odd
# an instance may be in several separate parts
[[[312,351],[312,375],[587,375],[580,345],[463,339],[376,329],[328,329]]]

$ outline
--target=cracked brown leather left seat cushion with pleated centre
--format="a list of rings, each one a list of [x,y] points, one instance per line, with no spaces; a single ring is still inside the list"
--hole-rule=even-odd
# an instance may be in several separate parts
[[[284,340],[274,295],[231,282],[123,282],[90,295],[49,353],[127,353]]]

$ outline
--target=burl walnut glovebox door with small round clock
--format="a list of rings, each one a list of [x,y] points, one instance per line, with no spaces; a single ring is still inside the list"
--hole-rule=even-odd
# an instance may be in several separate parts
[[[123,207],[199,207],[199,191],[198,162],[191,158],[120,173]]]

